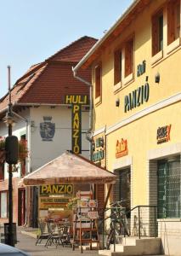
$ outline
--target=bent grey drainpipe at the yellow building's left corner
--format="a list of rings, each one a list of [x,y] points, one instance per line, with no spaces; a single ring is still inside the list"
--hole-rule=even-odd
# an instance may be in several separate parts
[[[89,119],[89,127],[88,131],[86,134],[86,138],[89,142],[89,160],[91,160],[91,150],[92,150],[92,137],[93,137],[93,84],[89,83],[85,79],[80,78],[79,76],[76,75],[76,70],[74,67],[72,67],[72,72],[74,75],[74,78],[81,81],[84,84],[87,84],[89,86],[89,114],[88,114],[88,119]]]

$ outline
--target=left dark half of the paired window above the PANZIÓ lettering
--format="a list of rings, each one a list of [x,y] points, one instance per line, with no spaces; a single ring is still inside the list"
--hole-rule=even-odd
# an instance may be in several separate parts
[[[114,55],[114,84],[122,81],[122,50],[118,49]]]

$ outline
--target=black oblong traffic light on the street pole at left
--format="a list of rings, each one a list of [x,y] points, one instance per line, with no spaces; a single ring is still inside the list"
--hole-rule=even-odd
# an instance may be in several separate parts
[[[8,136],[5,140],[6,162],[9,165],[18,163],[18,138],[16,136]]]

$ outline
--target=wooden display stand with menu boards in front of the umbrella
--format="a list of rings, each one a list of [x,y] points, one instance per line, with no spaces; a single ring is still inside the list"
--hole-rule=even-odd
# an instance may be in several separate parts
[[[82,245],[89,245],[92,249],[93,243],[99,247],[98,204],[96,200],[83,198],[77,202],[72,248],[75,250],[78,245],[82,253]]]

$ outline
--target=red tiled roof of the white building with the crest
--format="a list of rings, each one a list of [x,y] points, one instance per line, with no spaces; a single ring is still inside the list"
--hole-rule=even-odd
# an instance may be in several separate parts
[[[33,65],[11,90],[12,102],[20,104],[62,104],[65,95],[87,94],[88,86],[73,77],[72,62],[80,61],[97,40],[83,37],[60,49],[42,63]],[[80,73],[91,81],[91,71]],[[8,95],[0,100],[0,112],[8,106]]]

